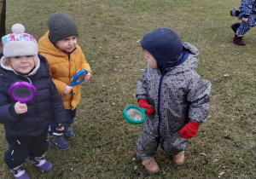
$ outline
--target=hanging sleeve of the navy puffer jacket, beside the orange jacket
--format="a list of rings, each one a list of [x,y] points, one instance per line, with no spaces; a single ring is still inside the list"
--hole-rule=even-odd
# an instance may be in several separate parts
[[[58,94],[58,91],[53,82],[50,83],[49,90],[53,122],[56,124],[65,123],[67,121],[65,107],[61,100],[61,95]]]

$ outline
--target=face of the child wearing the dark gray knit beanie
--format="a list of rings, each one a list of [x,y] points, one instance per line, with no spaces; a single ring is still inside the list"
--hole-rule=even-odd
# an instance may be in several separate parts
[[[63,51],[72,52],[77,45],[77,37],[70,36],[68,38],[64,38],[57,41],[55,44],[58,48],[62,49]]]

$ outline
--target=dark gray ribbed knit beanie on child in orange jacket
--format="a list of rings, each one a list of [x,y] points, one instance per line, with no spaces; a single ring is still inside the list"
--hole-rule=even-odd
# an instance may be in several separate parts
[[[49,40],[55,43],[63,38],[79,36],[78,27],[68,14],[55,13],[49,17]]]

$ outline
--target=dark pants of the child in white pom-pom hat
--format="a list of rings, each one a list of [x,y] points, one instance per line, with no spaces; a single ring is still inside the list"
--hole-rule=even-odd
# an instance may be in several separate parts
[[[27,157],[42,156],[49,146],[47,131],[39,136],[8,136],[9,150],[4,153],[4,159],[9,169],[22,165]]]

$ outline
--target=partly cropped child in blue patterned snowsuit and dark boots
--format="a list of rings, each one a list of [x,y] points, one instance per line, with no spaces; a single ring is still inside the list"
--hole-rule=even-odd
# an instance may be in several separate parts
[[[234,9],[235,10],[235,9]],[[236,11],[236,10],[235,10]],[[242,40],[243,36],[253,27],[256,26],[256,1],[254,0],[242,0],[240,6],[240,12],[230,12],[232,16],[238,16],[241,22],[235,23],[231,26],[231,29],[235,32],[233,43],[236,45],[245,45]]]

